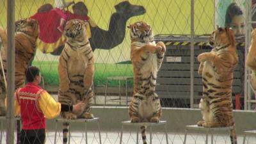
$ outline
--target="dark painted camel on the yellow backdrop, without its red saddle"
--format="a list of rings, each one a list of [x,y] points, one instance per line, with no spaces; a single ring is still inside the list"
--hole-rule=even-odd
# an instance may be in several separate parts
[[[81,17],[88,15],[88,9],[83,2],[75,3],[72,9],[76,15]],[[137,15],[143,15],[146,12],[143,6],[131,4],[129,1],[122,1],[116,4],[115,9],[116,12],[110,18],[108,30],[99,28],[99,26],[89,20],[92,33],[92,37],[89,40],[93,51],[95,49],[113,49],[113,47],[121,44],[124,40],[127,20]],[[37,13],[45,13],[51,10],[51,4],[44,4],[38,8]],[[64,43],[58,45],[58,48],[52,51],[51,54],[60,55],[63,47]]]

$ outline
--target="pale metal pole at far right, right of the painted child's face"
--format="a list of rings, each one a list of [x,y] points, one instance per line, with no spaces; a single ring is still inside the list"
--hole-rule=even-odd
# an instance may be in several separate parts
[[[248,49],[250,47],[251,43],[251,12],[252,12],[252,1],[246,1],[246,12],[245,12],[245,17],[246,17],[246,33],[245,33],[245,47],[244,47],[244,64],[246,60],[246,56],[248,54]],[[250,79],[249,79],[249,74],[250,71],[249,69],[244,65],[244,109],[250,109],[250,98],[251,98],[251,93],[250,93]]]

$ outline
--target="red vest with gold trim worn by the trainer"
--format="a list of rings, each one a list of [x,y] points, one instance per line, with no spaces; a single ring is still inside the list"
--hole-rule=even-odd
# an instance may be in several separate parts
[[[45,129],[45,116],[38,104],[40,92],[43,92],[40,86],[28,83],[15,93],[16,100],[20,104],[20,117],[24,130]]]

